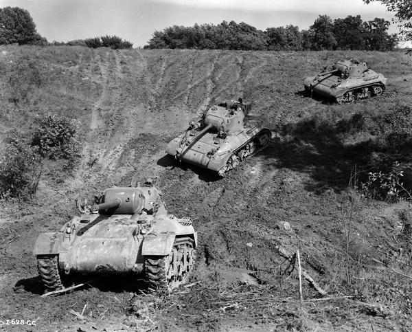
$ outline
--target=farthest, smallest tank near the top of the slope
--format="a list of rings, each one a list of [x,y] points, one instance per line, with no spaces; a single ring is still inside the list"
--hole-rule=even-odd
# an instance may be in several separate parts
[[[387,78],[368,69],[367,63],[351,59],[339,60],[332,70],[306,78],[304,86],[311,95],[316,93],[342,104],[380,96],[386,82]]]

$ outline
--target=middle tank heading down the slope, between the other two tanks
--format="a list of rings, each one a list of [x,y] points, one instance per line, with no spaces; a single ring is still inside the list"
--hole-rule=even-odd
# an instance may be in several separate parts
[[[210,107],[170,142],[166,153],[180,162],[207,168],[220,176],[267,146],[271,131],[240,98]]]

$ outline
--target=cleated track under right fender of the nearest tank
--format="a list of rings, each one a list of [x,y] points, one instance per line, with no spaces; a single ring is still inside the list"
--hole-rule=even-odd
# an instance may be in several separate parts
[[[149,288],[172,291],[183,285],[193,271],[195,259],[194,241],[190,237],[176,238],[168,256],[146,256],[144,273]]]

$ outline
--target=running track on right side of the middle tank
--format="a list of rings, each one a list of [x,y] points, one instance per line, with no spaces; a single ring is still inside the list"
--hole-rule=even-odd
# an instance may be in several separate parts
[[[244,162],[244,159],[250,157],[251,155],[255,155],[258,151],[266,148],[269,144],[269,140],[271,139],[271,131],[264,130],[261,131],[255,137],[252,137],[249,141],[244,143],[242,146],[239,146],[235,151],[233,151],[232,155],[229,157],[229,160],[225,166],[218,170],[218,175],[220,177],[224,177],[229,170],[236,168],[238,165]]]

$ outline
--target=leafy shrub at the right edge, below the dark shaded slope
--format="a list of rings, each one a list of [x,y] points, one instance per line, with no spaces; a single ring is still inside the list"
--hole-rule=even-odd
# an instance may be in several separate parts
[[[369,172],[367,181],[361,188],[367,197],[383,199],[385,201],[398,201],[401,197],[412,199],[411,192],[404,188],[402,177],[404,167],[399,162],[394,162],[389,172]]]

